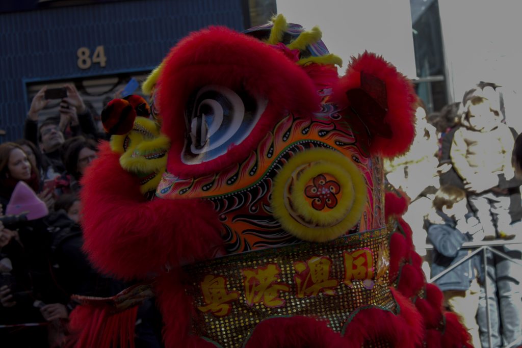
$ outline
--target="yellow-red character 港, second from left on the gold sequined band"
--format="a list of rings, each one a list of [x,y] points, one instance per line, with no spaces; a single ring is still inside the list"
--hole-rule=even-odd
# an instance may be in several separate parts
[[[242,270],[246,303],[249,306],[263,303],[267,307],[284,305],[284,299],[279,297],[279,292],[288,292],[290,287],[278,282],[280,272],[275,263],[269,263],[266,267]]]

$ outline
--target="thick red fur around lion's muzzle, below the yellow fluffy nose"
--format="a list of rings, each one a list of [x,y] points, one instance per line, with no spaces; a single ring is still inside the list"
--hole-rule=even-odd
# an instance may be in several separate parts
[[[147,201],[108,143],[82,179],[84,249],[101,271],[145,278],[165,266],[215,255],[219,220],[200,200]]]

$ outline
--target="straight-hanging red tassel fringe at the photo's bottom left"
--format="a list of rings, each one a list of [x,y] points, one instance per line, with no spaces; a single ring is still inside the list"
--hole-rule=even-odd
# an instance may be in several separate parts
[[[110,307],[77,306],[69,316],[68,347],[134,348],[138,306],[111,314]]]

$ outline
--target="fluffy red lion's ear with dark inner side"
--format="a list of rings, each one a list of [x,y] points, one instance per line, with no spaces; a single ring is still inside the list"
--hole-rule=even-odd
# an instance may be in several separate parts
[[[352,57],[335,94],[364,123],[372,153],[395,157],[408,151],[415,136],[417,97],[395,66],[373,53]]]

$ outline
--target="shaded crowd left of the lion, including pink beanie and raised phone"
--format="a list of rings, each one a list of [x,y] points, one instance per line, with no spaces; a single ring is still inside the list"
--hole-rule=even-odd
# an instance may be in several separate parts
[[[97,158],[99,134],[73,85],[58,115],[41,119],[46,87],[33,98],[25,136],[0,144],[0,342],[61,346],[78,305],[71,295],[110,297],[133,282],[94,270],[81,250],[81,176]],[[27,213],[30,211],[30,213]],[[136,346],[161,346],[153,300],[138,310]]]

